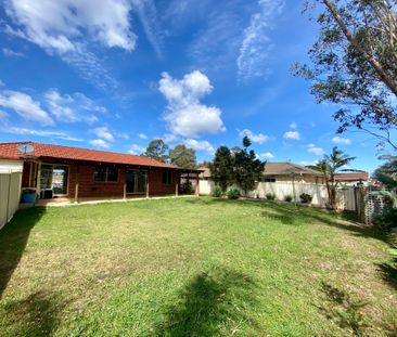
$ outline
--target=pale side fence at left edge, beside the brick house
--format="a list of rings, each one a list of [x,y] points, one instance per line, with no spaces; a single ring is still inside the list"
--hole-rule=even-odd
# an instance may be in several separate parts
[[[0,229],[18,209],[21,198],[22,167],[4,169],[0,166]]]

